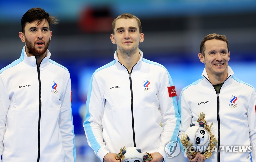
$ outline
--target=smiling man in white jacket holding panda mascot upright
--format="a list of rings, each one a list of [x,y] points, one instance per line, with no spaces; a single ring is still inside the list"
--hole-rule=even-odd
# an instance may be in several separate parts
[[[179,138],[191,122],[197,123],[200,112],[204,112],[207,123],[213,123],[211,132],[219,142],[209,159],[197,154],[191,161],[249,162],[251,151],[255,161],[256,93],[254,87],[234,77],[228,65],[230,52],[227,37],[219,34],[205,36],[198,57],[205,64],[203,78],[181,92],[178,104],[181,112]],[[230,147],[252,149],[227,151]],[[185,156],[192,158],[186,153]]]

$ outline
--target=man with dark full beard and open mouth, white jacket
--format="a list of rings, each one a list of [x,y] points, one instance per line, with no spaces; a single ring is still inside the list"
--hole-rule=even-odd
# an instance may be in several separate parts
[[[3,161],[76,161],[70,74],[48,50],[57,17],[31,8],[21,23],[21,57],[0,70]]]

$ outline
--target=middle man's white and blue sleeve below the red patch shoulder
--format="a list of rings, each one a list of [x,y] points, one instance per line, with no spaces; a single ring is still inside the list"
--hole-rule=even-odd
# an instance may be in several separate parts
[[[159,80],[159,91],[157,95],[162,115],[161,122],[163,125],[161,145],[158,146],[157,151],[164,157],[164,159],[167,157],[165,147],[169,142],[177,140],[180,125],[177,98],[176,96],[169,97],[168,87],[170,86],[173,86],[173,81],[169,72],[166,70]]]

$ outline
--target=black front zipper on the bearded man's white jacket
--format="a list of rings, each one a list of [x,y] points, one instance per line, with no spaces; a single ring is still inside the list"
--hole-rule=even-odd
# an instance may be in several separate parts
[[[37,63],[36,58],[36,65],[37,65],[37,74],[38,74],[38,81],[39,81],[39,117],[38,117],[38,152],[37,152],[37,162],[40,161],[40,135],[41,135],[41,111],[42,111],[42,94],[41,94],[41,79],[40,79],[40,65],[44,58],[41,60],[39,66]]]

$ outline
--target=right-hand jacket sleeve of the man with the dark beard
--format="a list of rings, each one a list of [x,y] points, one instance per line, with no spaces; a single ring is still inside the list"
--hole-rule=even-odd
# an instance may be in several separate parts
[[[63,148],[65,151],[65,161],[76,161],[76,147],[73,116],[71,109],[71,81],[68,76],[64,93],[60,97],[61,112],[59,116],[59,126],[62,136]]]

